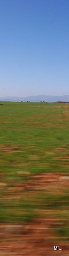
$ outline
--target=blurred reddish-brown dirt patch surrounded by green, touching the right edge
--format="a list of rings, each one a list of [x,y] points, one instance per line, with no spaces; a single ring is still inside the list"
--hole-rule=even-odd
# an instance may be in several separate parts
[[[69,176],[63,173],[41,173],[32,176],[32,180],[27,183],[20,183],[15,185],[18,187],[23,187],[25,191],[27,190],[46,190],[58,193],[60,190],[69,187]],[[58,188],[58,190],[55,188]],[[14,188],[13,188],[14,189]]]

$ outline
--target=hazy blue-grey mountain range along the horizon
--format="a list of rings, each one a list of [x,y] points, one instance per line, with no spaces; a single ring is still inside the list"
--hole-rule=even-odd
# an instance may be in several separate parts
[[[27,96],[27,97],[0,97],[0,101],[31,101],[31,102],[40,102],[40,101],[47,101],[47,102],[56,102],[56,101],[68,101],[69,102],[69,95],[63,96],[49,96],[49,95],[37,95],[37,96]]]

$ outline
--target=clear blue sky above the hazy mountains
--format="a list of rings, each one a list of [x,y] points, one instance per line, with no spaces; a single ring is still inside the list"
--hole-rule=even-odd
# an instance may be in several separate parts
[[[69,0],[0,0],[0,96],[69,94]]]

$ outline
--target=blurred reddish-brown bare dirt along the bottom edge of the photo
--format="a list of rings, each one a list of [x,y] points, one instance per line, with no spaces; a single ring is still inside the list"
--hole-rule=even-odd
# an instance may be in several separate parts
[[[50,230],[51,220],[40,220],[36,223],[13,228],[8,225],[0,229],[0,255],[50,256],[69,255],[69,242],[58,241]],[[62,251],[54,251],[59,246]]]

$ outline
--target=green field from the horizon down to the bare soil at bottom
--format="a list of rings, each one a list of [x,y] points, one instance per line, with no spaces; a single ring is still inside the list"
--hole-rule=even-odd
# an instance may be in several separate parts
[[[69,105],[3,104],[0,106],[0,223],[56,218],[51,229],[56,237],[68,240]]]

